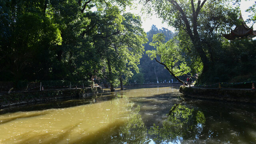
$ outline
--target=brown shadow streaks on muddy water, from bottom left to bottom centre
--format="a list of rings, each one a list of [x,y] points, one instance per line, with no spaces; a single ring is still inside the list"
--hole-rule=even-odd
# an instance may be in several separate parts
[[[76,144],[148,144],[150,139],[147,137],[147,128],[142,121],[141,116],[138,114],[140,107],[138,106],[130,114],[130,118],[127,121],[114,121],[108,124],[106,127],[100,128],[96,132],[90,134],[78,135],[78,137],[72,139],[69,138],[72,132],[76,131],[76,126],[79,123],[74,124],[72,127],[67,127],[63,129],[63,132],[58,132],[51,136],[49,133],[38,134],[30,136],[22,140],[20,143],[30,142],[30,143],[40,143],[50,144],[50,143],[76,143]],[[86,131],[86,130],[85,130]],[[20,137],[26,137],[28,133],[20,135]],[[41,141],[39,138],[44,138]]]

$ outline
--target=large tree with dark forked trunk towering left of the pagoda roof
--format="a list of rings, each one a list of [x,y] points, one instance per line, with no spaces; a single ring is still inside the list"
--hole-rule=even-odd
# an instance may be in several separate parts
[[[202,61],[203,70],[208,71],[214,64],[214,49],[218,45],[212,43],[221,32],[236,23],[238,8],[232,8],[228,5],[229,2],[228,0],[203,0],[202,2],[200,0],[146,0],[144,4],[148,12],[152,12],[153,8],[170,26],[186,34],[192,44],[191,47],[186,47],[186,51],[188,53],[193,51]]]

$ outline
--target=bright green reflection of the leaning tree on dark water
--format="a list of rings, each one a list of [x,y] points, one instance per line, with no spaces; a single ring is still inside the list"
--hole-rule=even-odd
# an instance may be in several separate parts
[[[184,105],[175,105],[167,120],[163,122],[163,127],[160,128],[154,124],[148,133],[156,144],[195,140],[200,136],[205,121],[205,116],[201,111]]]

